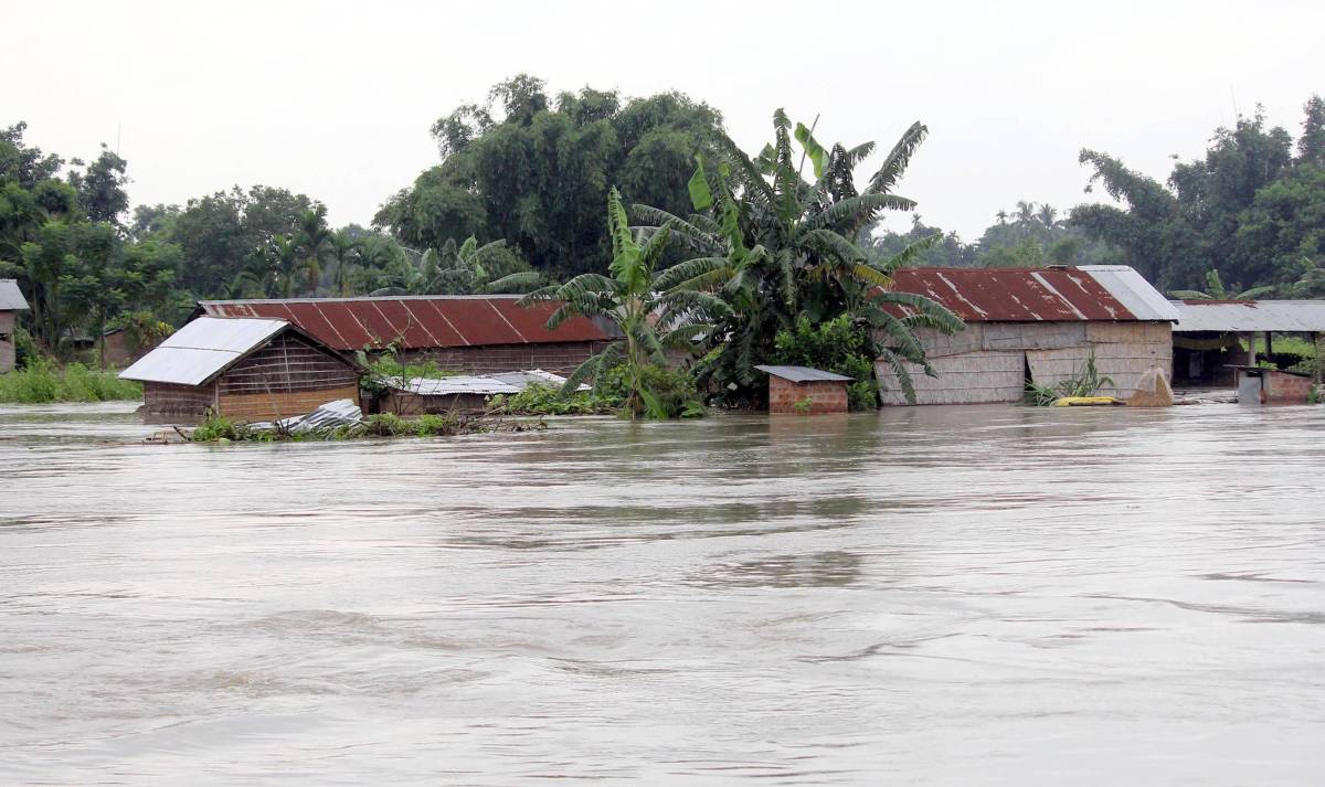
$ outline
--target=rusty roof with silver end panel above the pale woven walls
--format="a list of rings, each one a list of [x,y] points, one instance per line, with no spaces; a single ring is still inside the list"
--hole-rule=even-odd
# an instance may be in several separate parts
[[[893,289],[946,306],[966,322],[1173,321],[1177,313],[1124,265],[1097,268],[904,268]]]

